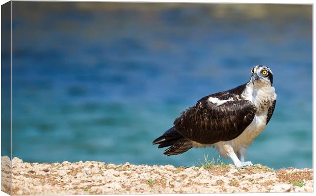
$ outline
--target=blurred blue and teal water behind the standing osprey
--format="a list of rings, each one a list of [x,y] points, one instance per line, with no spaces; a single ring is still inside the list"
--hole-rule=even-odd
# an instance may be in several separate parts
[[[53,4],[13,3],[13,157],[175,166],[217,158],[213,148],[166,157],[151,142],[199,98],[267,65],[277,104],[246,159],[312,167],[311,15]]]

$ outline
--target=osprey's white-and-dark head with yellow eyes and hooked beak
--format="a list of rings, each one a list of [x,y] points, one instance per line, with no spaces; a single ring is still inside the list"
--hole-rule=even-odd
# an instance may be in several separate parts
[[[251,69],[250,82],[253,86],[272,86],[273,74],[269,67],[264,65],[256,65]]]

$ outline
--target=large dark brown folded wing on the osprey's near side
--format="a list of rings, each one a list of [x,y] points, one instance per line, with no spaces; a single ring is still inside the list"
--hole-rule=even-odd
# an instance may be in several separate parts
[[[214,95],[225,98],[230,96],[234,101],[217,106],[209,102],[207,97],[202,98],[174,121],[176,131],[183,137],[201,144],[214,144],[238,137],[255,116],[254,104],[248,100],[235,100],[238,97],[235,94]]]

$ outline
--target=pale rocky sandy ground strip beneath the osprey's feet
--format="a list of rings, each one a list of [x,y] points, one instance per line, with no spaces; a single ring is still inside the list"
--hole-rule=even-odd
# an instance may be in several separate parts
[[[2,157],[2,190],[10,192],[10,159]],[[12,194],[128,194],[312,192],[312,169],[274,171],[254,165],[174,167],[86,161],[29,163],[12,160]]]

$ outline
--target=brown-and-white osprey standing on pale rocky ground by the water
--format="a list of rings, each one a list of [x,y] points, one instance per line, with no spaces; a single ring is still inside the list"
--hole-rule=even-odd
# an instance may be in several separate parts
[[[270,68],[254,66],[249,82],[203,97],[152,144],[170,146],[164,152],[167,156],[213,146],[236,167],[251,166],[245,162],[247,147],[266,128],[274,111],[277,95],[272,83]]]

